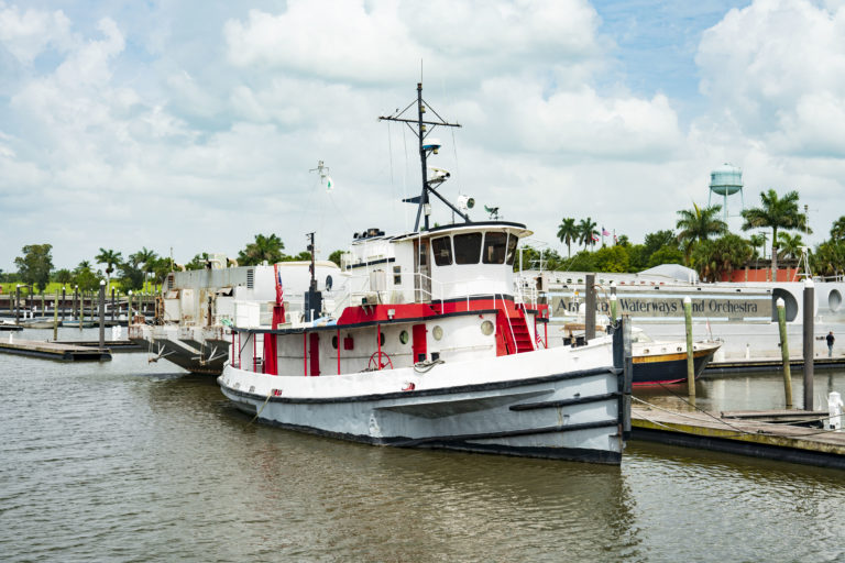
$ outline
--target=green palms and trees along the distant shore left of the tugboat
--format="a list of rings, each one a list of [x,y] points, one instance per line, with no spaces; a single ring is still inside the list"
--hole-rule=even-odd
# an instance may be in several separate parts
[[[283,251],[285,244],[276,234],[256,234],[255,240],[238,252],[237,264],[239,266],[254,266],[273,264],[275,262],[308,261],[310,252],[303,251],[296,255],[287,255]],[[202,269],[211,267],[212,257],[208,253],[196,254],[187,264],[176,264],[169,257],[160,256],[155,251],[143,246],[140,251],[123,257],[121,252],[111,249],[100,249],[91,261],[83,261],[75,268],[55,269],[53,265],[52,244],[28,244],[21,250],[22,256],[14,258],[17,273],[3,274],[0,271],[0,283],[18,283],[33,286],[39,292],[46,289],[47,285],[57,283],[67,287],[78,287],[90,291],[99,288],[100,280],[105,280],[107,287],[116,286],[123,292],[157,287],[164,278],[174,269]],[[341,251],[334,251],[329,260],[340,265]],[[95,269],[91,264],[102,265]],[[226,267],[227,264],[220,265]]]

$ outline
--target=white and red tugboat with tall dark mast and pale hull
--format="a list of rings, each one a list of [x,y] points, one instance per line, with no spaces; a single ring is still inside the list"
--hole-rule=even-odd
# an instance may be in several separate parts
[[[285,322],[278,280],[272,325],[232,329],[223,395],[260,421],[338,439],[618,464],[630,417],[628,331],[542,344],[548,307],[513,284],[517,245],[531,232],[473,222],[434,189],[449,174],[429,177],[439,145],[428,133],[459,125],[430,108],[438,120],[425,119],[421,84],[415,102],[380,118],[407,123],[419,140],[414,231],[356,233],[341,264],[347,295],[323,312],[312,279],[304,322]],[[414,106],[416,119],[404,118]],[[430,227],[431,195],[463,221]]]

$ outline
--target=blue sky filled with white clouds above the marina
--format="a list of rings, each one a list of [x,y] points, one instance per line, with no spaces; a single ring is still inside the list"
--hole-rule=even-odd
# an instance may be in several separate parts
[[[461,124],[431,133],[438,190],[537,247],[569,217],[673,229],[723,163],[732,216],[794,189],[817,244],[845,214],[842,0],[0,0],[0,269],[407,232],[416,139],[377,118],[420,80]]]

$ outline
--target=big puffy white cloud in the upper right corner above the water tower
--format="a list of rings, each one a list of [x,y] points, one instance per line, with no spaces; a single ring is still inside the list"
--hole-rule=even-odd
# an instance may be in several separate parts
[[[744,134],[783,154],[845,156],[837,140],[845,106],[841,5],[768,0],[732,10],[704,33],[696,62],[703,91]]]

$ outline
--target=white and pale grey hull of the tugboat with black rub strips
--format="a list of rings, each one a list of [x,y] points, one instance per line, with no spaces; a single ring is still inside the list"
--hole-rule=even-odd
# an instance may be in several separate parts
[[[612,347],[549,349],[475,362],[340,376],[227,366],[223,394],[284,428],[378,445],[617,464],[622,375]]]

